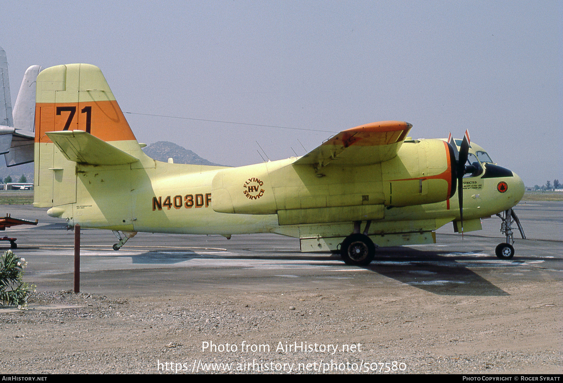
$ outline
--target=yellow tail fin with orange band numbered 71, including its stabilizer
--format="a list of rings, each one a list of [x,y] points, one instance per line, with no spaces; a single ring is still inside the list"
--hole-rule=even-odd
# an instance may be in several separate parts
[[[104,75],[90,64],[57,65],[39,73],[34,146],[37,207],[75,203],[77,169],[83,166],[150,160]]]

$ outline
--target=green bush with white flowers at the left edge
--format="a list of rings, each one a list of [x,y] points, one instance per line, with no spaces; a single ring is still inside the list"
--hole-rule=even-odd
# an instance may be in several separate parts
[[[28,293],[34,291],[35,286],[25,283],[24,268],[28,262],[8,250],[0,259],[0,301],[4,305],[17,306],[19,309],[27,307]]]

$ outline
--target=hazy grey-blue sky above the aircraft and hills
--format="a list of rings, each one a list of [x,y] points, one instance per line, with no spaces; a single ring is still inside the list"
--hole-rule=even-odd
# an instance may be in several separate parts
[[[428,4],[430,3],[430,4]],[[101,68],[139,142],[261,162],[368,122],[452,131],[528,186],[563,181],[561,1],[3,0],[12,103],[25,69]]]

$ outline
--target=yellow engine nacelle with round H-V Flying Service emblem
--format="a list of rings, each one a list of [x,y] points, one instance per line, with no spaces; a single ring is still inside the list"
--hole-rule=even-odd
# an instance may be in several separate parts
[[[382,219],[383,206],[430,204],[455,192],[453,151],[443,140],[405,142],[373,165],[323,168],[287,159],[218,171],[212,207],[219,213],[278,214],[280,224]]]

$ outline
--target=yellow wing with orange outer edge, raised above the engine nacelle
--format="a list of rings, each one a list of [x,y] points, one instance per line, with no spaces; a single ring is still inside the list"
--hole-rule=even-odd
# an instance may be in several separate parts
[[[338,165],[369,165],[392,159],[410,128],[404,121],[380,121],[341,131],[294,164],[315,165],[316,169],[332,161]]]

